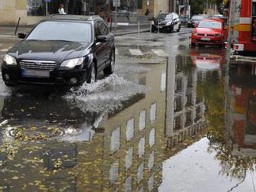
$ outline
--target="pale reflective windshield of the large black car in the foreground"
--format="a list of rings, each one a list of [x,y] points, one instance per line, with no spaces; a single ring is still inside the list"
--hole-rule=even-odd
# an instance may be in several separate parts
[[[26,40],[56,40],[89,43],[92,40],[92,26],[85,22],[41,22]]]

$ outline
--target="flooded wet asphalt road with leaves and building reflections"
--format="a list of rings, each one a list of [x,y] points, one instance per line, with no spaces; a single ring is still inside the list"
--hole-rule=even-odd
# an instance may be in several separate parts
[[[0,191],[255,191],[255,65],[225,55],[141,33],[116,37],[96,84],[1,81]]]

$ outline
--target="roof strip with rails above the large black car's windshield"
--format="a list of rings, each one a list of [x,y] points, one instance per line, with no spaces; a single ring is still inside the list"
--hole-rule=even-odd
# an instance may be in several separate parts
[[[53,15],[50,15],[50,19],[71,19],[71,20],[90,21],[90,20],[102,19],[102,18],[99,15],[90,15],[90,16],[88,16],[88,15],[53,14]]]

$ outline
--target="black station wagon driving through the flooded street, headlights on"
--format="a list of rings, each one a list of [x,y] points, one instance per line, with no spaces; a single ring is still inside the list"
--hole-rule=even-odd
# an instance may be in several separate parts
[[[99,16],[54,15],[19,38],[2,64],[6,86],[73,87],[94,83],[102,70],[106,75],[114,71],[114,36]]]

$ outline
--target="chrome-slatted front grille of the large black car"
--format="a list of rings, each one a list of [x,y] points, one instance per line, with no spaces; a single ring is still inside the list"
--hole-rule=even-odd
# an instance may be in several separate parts
[[[54,70],[56,63],[49,60],[22,60],[19,62],[22,69]]]

